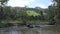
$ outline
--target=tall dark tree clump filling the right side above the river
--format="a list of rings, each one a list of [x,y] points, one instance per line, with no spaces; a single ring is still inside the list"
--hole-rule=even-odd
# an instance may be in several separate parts
[[[49,6],[50,22],[60,24],[60,0],[53,0],[53,5]]]

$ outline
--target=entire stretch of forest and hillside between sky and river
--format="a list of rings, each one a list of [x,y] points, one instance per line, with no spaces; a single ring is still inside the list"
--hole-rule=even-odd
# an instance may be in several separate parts
[[[3,0],[0,6],[0,27],[18,25],[60,25],[60,0],[48,8],[27,8],[7,6],[9,0]]]

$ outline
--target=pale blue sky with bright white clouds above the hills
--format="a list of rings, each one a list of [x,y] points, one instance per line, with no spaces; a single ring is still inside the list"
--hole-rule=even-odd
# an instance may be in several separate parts
[[[9,0],[8,6],[12,7],[29,7],[29,8],[35,8],[35,7],[41,7],[41,8],[47,8],[49,5],[52,4],[51,0]]]

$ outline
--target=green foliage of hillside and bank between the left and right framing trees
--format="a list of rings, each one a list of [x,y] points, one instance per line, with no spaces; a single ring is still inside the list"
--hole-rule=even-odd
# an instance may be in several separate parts
[[[49,23],[48,14],[42,10],[38,13],[35,10],[27,10],[26,8],[20,8],[18,10],[18,8],[14,7],[4,8],[4,18],[1,22],[6,26],[14,25],[14,23],[19,25],[37,25]]]

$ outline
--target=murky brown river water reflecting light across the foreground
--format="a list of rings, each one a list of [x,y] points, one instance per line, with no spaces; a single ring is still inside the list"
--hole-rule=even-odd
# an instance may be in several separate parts
[[[60,28],[54,26],[48,26],[43,28],[13,26],[8,28],[0,28],[0,34],[60,34]]]

